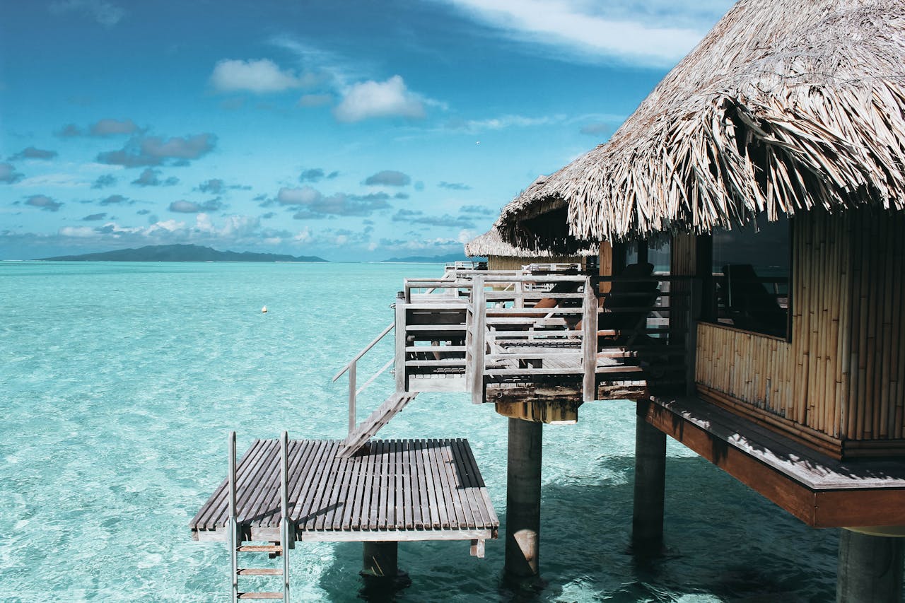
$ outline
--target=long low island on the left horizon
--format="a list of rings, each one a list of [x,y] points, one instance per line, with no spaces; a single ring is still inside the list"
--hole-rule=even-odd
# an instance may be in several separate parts
[[[100,254],[58,255],[41,260],[55,262],[327,262],[316,255],[222,252],[202,245],[146,245]]]

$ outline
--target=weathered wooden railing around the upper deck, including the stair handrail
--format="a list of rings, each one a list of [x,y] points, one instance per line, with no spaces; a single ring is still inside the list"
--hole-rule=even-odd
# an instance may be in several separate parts
[[[396,392],[461,391],[474,403],[489,384],[567,383],[586,401],[607,383],[687,389],[699,302],[690,277],[669,275],[468,269],[407,279],[394,325],[334,380],[348,372],[350,431],[357,395],[393,365]],[[394,358],[357,388],[357,361],[394,328]]]

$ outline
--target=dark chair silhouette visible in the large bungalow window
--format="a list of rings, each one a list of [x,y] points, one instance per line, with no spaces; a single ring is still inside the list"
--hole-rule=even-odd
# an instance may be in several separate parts
[[[788,316],[749,263],[723,266],[720,302],[739,329],[785,335]]]

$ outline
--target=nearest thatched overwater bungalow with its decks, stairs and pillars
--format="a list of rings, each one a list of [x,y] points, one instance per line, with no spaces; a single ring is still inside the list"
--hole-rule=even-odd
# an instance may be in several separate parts
[[[397,541],[480,555],[499,522],[467,443],[373,439],[419,392],[466,392],[508,417],[505,570],[530,580],[543,425],[631,399],[635,552],[662,547],[672,436],[805,524],[842,528],[839,601],[900,600],[903,199],[901,4],[741,0],[608,142],[538,178],[489,235],[592,247],[597,270],[406,280],[376,338],[395,338],[395,392],[357,423],[356,363],[375,340],[341,372],[348,437],[252,446],[195,538],[273,540],[271,553],[368,541],[367,570],[387,576]],[[237,571],[233,555],[233,594]]]

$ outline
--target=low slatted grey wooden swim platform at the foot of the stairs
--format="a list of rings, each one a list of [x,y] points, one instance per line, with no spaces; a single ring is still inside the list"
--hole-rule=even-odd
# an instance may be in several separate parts
[[[289,443],[289,516],[297,541],[496,538],[493,510],[464,439],[372,440],[351,458],[339,440]],[[237,466],[245,541],[280,539],[280,443],[255,440]],[[227,540],[224,480],[189,523],[197,541]]]

